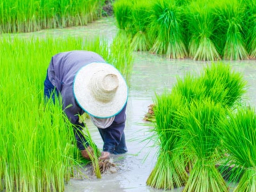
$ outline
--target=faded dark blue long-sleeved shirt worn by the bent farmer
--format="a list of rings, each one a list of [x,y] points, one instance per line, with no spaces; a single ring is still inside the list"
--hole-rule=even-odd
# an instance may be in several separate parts
[[[81,115],[84,111],[77,104],[74,97],[74,78],[80,68],[92,62],[105,63],[106,61],[95,52],[70,51],[54,55],[48,67],[48,78],[52,85],[56,87],[57,91],[61,94],[63,110],[68,116],[70,122],[75,125],[81,125],[78,122],[78,114]],[[104,138],[102,138],[104,141],[104,151],[113,153],[115,147],[119,145],[124,132],[124,122],[126,120],[125,109],[126,105],[121,112],[115,116],[114,122],[108,128],[104,129],[104,131],[102,130],[104,132]],[[78,148],[83,150],[84,145],[80,142]]]

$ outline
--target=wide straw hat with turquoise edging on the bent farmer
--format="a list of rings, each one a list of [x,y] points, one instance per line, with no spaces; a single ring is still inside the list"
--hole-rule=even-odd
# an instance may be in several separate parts
[[[128,97],[123,76],[107,63],[90,63],[82,67],[75,76],[73,89],[80,107],[98,118],[118,114]]]

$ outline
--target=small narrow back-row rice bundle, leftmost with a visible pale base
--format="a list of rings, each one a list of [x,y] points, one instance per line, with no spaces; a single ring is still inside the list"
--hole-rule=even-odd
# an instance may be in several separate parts
[[[132,21],[135,35],[132,38],[134,51],[147,51],[151,44],[148,38],[148,28],[151,16],[151,4],[140,0],[134,3],[132,9]]]

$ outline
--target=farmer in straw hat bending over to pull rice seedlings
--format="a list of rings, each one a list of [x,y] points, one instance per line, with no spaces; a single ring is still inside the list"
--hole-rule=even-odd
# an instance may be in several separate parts
[[[52,94],[52,93],[55,94]],[[77,147],[84,158],[93,153],[81,130],[79,115],[88,113],[104,142],[99,159],[127,152],[124,136],[127,85],[123,76],[100,55],[89,51],[61,52],[52,57],[44,95],[61,95],[63,110],[74,125]]]

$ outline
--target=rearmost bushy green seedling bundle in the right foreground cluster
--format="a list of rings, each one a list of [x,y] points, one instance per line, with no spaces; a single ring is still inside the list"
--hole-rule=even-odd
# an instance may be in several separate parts
[[[199,83],[204,86],[204,96],[224,107],[232,108],[246,92],[246,81],[241,73],[222,62],[207,65],[201,71]]]

